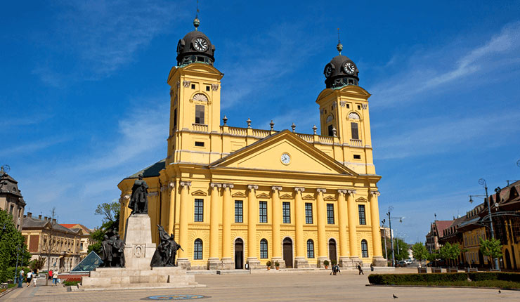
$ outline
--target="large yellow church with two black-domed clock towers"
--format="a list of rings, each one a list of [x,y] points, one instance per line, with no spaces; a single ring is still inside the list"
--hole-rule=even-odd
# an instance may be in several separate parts
[[[386,265],[379,233],[372,161],[370,93],[358,68],[339,55],[325,66],[316,99],[320,132],[228,126],[221,118],[215,46],[195,30],[178,41],[171,68],[167,157],[124,178],[119,232],[129,217],[131,188],[149,186],[152,240],[157,225],[173,233],[188,269],[321,268]],[[318,113],[318,112],[317,112]]]

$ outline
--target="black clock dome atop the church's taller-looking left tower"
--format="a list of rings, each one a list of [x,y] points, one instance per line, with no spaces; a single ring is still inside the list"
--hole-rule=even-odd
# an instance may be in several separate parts
[[[200,62],[213,65],[215,46],[202,32],[195,29],[188,32],[177,44],[177,65],[186,65]]]

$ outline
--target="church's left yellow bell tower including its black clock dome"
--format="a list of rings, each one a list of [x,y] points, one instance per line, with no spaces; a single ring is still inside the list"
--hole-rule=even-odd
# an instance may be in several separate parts
[[[209,141],[206,144],[207,139],[201,138],[194,143],[192,136],[220,129],[223,74],[213,66],[215,46],[198,30],[200,20],[195,18],[193,25],[195,30],[178,41],[177,66],[171,68],[167,80],[170,86],[167,164],[181,162],[181,149],[204,147],[200,151],[206,151]]]

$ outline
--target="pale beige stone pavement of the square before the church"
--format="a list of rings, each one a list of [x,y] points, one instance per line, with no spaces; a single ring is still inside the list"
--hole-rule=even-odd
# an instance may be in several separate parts
[[[398,273],[415,270],[399,269]],[[422,287],[366,287],[367,275],[345,271],[342,275],[329,275],[330,271],[268,273],[252,275],[196,275],[195,280],[207,284],[193,289],[152,289],[124,291],[76,291],[65,287],[29,287],[16,289],[1,301],[52,301],[52,302],[117,302],[145,301],[146,297],[167,294],[197,294],[209,301],[394,301],[392,294],[403,301],[520,301],[520,291],[495,289],[452,289]],[[368,272],[366,273],[368,274]]]

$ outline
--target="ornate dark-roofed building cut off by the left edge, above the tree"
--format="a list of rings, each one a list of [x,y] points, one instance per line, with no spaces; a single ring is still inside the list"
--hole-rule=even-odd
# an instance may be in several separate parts
[[[18,188],[18,181],[4,171],[4,166],[0,168],[0,209],[13,216],[13,223],[21,231],[25,201]]]

